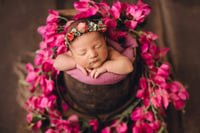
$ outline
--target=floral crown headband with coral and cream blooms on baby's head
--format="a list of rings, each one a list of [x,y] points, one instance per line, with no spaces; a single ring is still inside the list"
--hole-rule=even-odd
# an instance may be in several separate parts
[[[66,45],[69,45],[76,37],[91,31],[105,32],[106,25],[103,24],[102,20],[99,20],[97,23],[93,21],[89,21],[88,23],[80,22],[75,28],[66,34]]]

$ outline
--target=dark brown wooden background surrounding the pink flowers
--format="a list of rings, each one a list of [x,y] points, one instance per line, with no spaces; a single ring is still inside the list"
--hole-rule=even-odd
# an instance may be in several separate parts
[[[25,115],[18,99],[15,67],[24,53],[38,49],[37,27],[45,24],[48,9],[73,8],[73,0],[0,0],[0,132],[25,133]],[[136,0],[121,2],[136,3]],[[106,2],[108,2],[106,0]],[[158,43],[170,48],[176,79],[188,86],[190,99],[183,115],[185,133],[200,133],[200,1],[146,0],[152,6],[147,30],[158,34]],[[109,3],[112,3],[109,0]],[[173,58],[171,58],[173,57]],[[20,106],[21,105],[21,106]],[[176,125],[173,123],[172,125]],[[172,129],[173,131],[173,129]],[[174,129],[173,132],[178,132]],[[183,132],[183,131],[182,131]]]

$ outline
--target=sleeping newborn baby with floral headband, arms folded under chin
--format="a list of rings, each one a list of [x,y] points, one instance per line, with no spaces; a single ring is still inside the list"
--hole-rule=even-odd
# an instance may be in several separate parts
[[[105,31],[106,26],[101,20],[85,18],[73,22],[66,33],[69,50],[56,57],[54,67],[60,71],[78,68],[92,78],[105,72],[132,72],[132,62],[106,44]]]

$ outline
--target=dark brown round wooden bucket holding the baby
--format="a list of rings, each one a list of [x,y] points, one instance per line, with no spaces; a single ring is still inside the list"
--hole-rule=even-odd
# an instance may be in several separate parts
[[[140,68],[138,59],[134,63],[134,72],[118,83],[110,85],[90,85],[80,82],[67,73],[63,73],[65,92],[62,98],[79,112],[98,115],[122,110],[130,99],[135,99]],[[137,70],[137,71],[136,71]],[[120,109],[121,108],[121,109]]]

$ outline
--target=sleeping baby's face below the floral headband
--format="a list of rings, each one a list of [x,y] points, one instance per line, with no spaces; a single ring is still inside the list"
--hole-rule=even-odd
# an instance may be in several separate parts
[[[100,67],[108,56],[105,38],[99,32],[88,32],[70,44],[72,56],[84,68]]]

